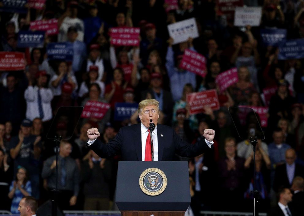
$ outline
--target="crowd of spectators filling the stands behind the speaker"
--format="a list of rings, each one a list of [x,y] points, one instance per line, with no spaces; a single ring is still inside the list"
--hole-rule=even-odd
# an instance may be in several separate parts
[[[278,47],[265,46],[260,38],[261,29],[287,29],[287,39],[303,39],[304,1],[244,0],[246,6],[262,7],[262,18],[260,26],[242,28],[220,13],[218,1],[178,0],[175,10],[167,10],[165,2],[46,0],[42,9],[26,4],[26,13],[1,12],[0,51],[25,53],[25,70],[0,71],[0,210],[17,214],[26,196],[39,205],[50,199],[55,144],[46,134],[59,107],[87,101],[110,108],[101,119],[81,118],[72,138],[61,141],[58,203],[63,210],[113,209],[120,156],[100,158],[85,146],[86,132],[98,128],[106,144],[121,127],[140,123],[137,112],[116,120],[116,103],[154,98],[160,103],[158,123],[172,126],[187,142],[203,139],[204,129],[215,130],[212,154],[176,157],[189,163],[194,214],[251,211],[255,182],[261,211],[279,201],[290,204],[292,215],[304,215],[298,201],[304,193],[303,59],[279,60]],[[167,25],[192,17],[199,37],[174,44]],[[58,34],[45,35],[42,48],[17,46],[18,32],[29,30],[30,22],[53,18]],[[139,46],[112,45],[113,27],[139,27]],[[51,42],[72,45],[73,60],[50,60],[46,47]],[[206,57],[205,77],[180,67],[185,49]],[[220,91],[216,77],[234,67],[237,83]],[[270,88],[275,92],[267,98]],[[220,109],[206,106],[190,115],[186,95],[210,89],[218,92]],[[257,141],[255,164],[250,141],[239,138],[227,109],[241,105],[268,108],[267,125],[262,125],[266,138]],[[68,121],[58,122],[57,129]]]

